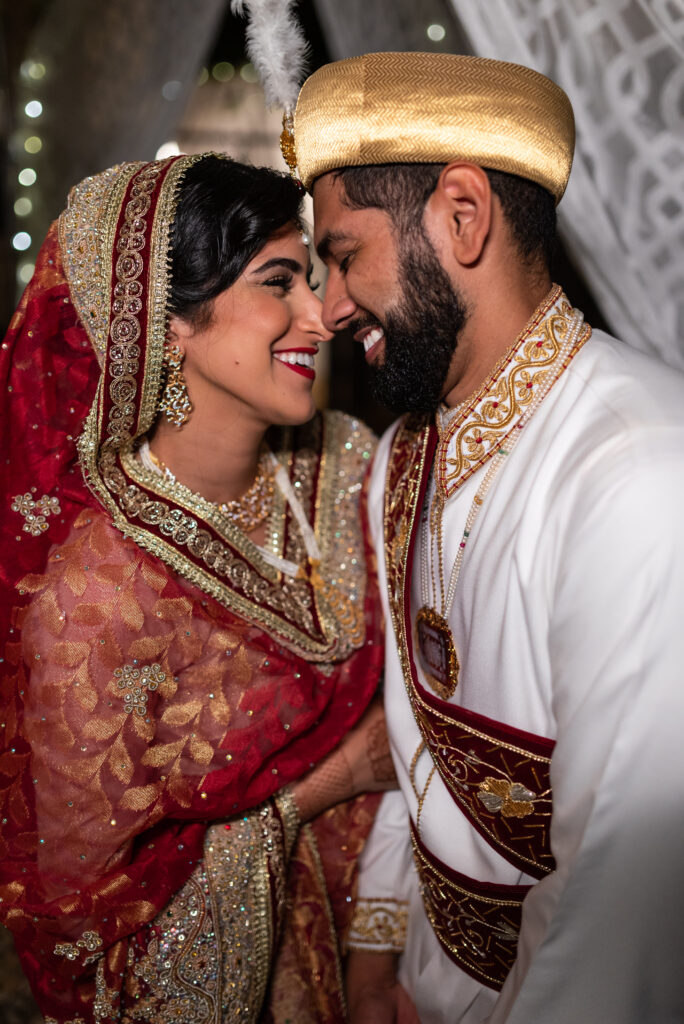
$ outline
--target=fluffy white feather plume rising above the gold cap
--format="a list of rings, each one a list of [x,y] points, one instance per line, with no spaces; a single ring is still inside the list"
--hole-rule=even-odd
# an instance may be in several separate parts
[[[261,79],[268,106],[292,112],[306,70],[308,44],[293,7],[296,0],[231,0],[233,14],[249,15],[247,55]]]

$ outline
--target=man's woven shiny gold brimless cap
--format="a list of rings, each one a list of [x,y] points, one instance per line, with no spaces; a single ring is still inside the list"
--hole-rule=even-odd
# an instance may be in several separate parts
[[[301,88],[295,147],[304,186],[368,164],[467,160],[537,181],[560,200],[574,146],[570,101],[520,65],[453,53],[367,53]]]

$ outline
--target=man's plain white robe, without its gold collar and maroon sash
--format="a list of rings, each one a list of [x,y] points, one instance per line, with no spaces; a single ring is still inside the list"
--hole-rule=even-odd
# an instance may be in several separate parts
[[[370,495],[388,623],[392,435]],[[447,575],[485,471],[446,503]],[[424,600],[421,550],[419,538],[412,620]],[[359,895],[411,901],[400,977],[422,1024],[684,1021],[684,378],[594,332],[495,479],[448,621],[461,664],[452,702],[556,740],[557,869],[525,899],[501,994],[442,952],[409,866],[409,766],[421,735],[389,626],[386,708],[400,794],[384,798]],[[419,792],[430,768],[423,752]],[[437,773],[420,827],[458,871],[533,882],[475,831]]]

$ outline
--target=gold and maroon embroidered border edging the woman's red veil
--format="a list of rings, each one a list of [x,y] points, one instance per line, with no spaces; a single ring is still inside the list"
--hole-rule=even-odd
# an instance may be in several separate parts
[[[178,187],[201,159],[112,168],[73,189],[60,218],[70,288],[102,367],[79,439],[84,475],[115,525],[140,547],[295,653],[338,660],[364,640],[365,564],[359,529],[347,520],[344,540],[359,555],[353,567],[335,571],[344,559],[334,536],[341,511],[334,482],[336,474],[346,477],[337,482],[347,486],[360,481],[370,433],[347,418],[326,419],[310,507],[323,563],[315,575],[303,572],[292,581],[274,572],[226,517],[208,503],[188,503],[185,488],[153,480],[133,455],[158,412]],[[296,529],[293,524],[291,531]],[[338,577],[334,589],[316,584],[331,574]]]

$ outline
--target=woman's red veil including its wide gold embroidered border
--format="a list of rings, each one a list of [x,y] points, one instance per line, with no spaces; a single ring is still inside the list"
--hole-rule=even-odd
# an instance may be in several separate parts
[[[131,455],[156,416],[169,228],[196,159],[83,182],[0,353],[0,920],[60,1020],[90,1013],[94,962],[125,963],[208,823],[337,744],[382,659],[359,425],[328,417],[277,452],[323,552],[285,584]],[[287,509],[281,544],[302,557]]]

